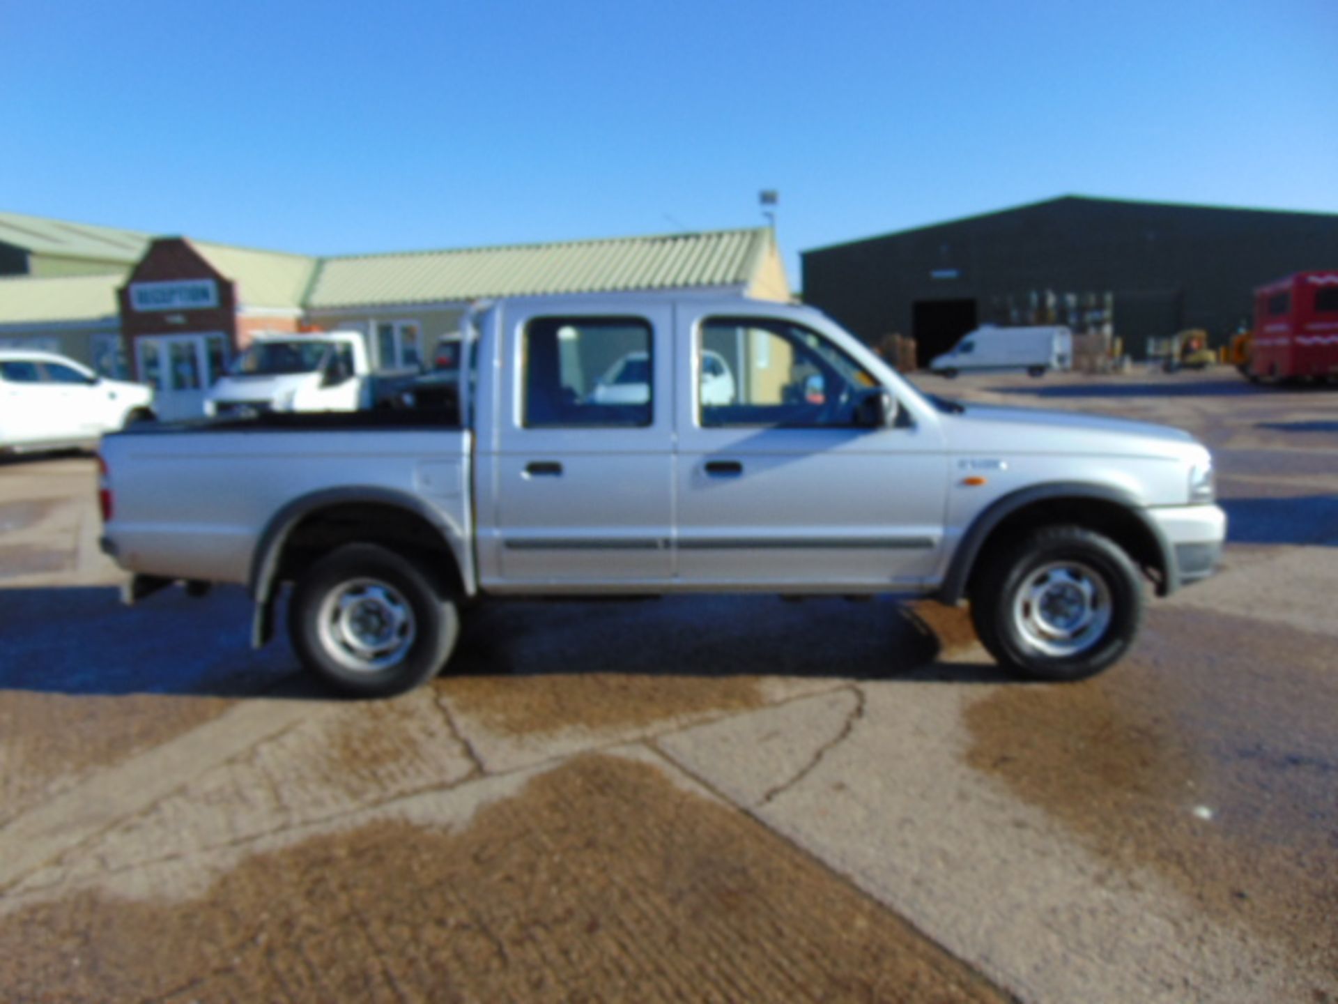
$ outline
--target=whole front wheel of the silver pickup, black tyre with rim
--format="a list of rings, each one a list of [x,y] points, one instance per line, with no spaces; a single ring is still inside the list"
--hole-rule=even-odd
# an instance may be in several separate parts
[[[1108,537],[1050,526],[987,561],[971,589],[971,620],[999,665],[1038,680],[1082,680],[1119,661],[1133,644],[1143,620],[1143,582]],[[1025,598],[1038,589],[1052,609]],[[1066,628],[1081,631],[1064,637]]]

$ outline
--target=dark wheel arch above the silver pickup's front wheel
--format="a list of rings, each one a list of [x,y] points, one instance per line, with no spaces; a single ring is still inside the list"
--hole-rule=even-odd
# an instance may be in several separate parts
[[[970,594],[991,554],[1046,526],[1077,526],[1109,538],[1153,580],[1159,596],[1179,586],[1169,541],[1132,495],[1101,485],[1038,485],[995,501],[958,543],[939,598],[955,604]]]

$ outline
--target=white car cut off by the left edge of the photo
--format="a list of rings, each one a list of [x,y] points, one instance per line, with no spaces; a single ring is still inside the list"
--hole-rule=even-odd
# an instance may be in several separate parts
[[[95,443],[154,416],[153,388],[108,380],[52,352],[0,349],[0,452]]]

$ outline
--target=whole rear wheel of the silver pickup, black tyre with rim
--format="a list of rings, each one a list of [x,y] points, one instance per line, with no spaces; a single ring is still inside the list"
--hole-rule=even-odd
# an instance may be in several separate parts
[[[298,578],[288,633],[302,665],[325,683],[353,696],[387,697],[442,671],[460,618],[413,562],[372,543],[348,543]]]

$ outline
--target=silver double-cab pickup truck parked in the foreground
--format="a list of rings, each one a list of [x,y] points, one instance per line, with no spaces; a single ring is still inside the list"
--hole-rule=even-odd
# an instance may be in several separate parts
[[[822,313],[619,296],[484,304],[435,407],[103,442],[131,600],[244,584],[253,639],[408,689],[488,597],[771,592],[970,602],[1004,665],[1115,663],[1226,534],[1208,451],[1151,424],[958,404]]]

